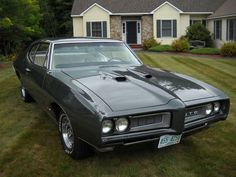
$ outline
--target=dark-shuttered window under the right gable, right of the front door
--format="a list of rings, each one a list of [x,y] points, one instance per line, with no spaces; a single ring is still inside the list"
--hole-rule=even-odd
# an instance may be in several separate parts
[[[177,37],[177,20],[157,20],[157,38]]]

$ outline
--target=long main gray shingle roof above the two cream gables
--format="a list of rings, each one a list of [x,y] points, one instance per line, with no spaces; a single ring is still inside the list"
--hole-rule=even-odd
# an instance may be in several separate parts
[[[112,13],[150,13],[166,1],[183,12],[214,12],[226,0],[74,0],[71,15],[80,15],[94,3]]]

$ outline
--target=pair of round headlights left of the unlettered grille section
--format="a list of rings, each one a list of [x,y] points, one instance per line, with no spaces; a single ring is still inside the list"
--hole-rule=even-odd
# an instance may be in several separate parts
[[[129,127],[129,121],[126,118],[118,118],[116,120],[104,120],[102,122],[102,133],[107,134],[115,130],[119,133],[126,131]]]

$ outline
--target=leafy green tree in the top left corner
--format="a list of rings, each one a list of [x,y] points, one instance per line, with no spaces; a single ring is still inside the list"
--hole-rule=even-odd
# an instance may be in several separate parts
[[[0,1],[0,52],[9,55],[38,38],[41,14],[37,0]]]

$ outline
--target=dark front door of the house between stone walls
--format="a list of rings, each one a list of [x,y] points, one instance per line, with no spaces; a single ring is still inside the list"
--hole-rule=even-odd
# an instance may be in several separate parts
[[[126,22],[126,36],[128,44],[137,44],[137,22]]]

